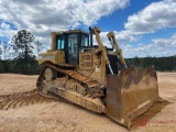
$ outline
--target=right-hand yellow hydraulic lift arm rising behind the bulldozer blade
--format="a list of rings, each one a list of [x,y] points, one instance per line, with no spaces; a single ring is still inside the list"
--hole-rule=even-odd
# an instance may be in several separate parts
[[[124,65],[124,67],[127,68],[127,64],[125,64],[125,61],[124,61],[124,58],[123,58],[122,51],[121,51],[121,48],[119,48],[118,42],[117,42],[117,40],[116,40],[116,37],[114,37],[114,33],[113,33],[113,32],[109,32],[109,33],[107,34],[107,36],[108,36],[110,43],[112,44],[112,46],[116,48],[116,51],[117,51],[117,56],[120,57],[121,63],[122,63],[122,64]]]

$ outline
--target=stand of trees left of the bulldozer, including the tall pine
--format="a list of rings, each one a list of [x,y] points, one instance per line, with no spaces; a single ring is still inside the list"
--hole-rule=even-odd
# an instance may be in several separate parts
[[[36,58],[41,50],[42,43],[35,41],[29,31],[19,31],[11,44],[0,42],[0,73],[40,74]]]

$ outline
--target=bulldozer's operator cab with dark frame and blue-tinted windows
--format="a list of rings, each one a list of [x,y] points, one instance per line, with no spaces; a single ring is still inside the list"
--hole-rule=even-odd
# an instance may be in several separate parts
[[[91,48],[87,32],[70,30],[56,35],[56,50],[65,52],[67,64],[77,65],[79,52],[84,48]]]

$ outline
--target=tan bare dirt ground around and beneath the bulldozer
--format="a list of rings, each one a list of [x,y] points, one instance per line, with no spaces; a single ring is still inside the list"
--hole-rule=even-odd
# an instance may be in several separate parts
[[[157,77],[160,96],[168,101],[155,103],[144,114],[135,118],[131,131],[176,132],[176,73],[157,73]],[[106,114],[61,100],[33,97],[35,91],[31,91],[32,96],[25,98],[25,101],[24,97],[15,96],[15,92],[35,89],[36,78],[37,76],[0,74],[0,132],[128,131]],[[4,101],[4,98],[9,100]]]

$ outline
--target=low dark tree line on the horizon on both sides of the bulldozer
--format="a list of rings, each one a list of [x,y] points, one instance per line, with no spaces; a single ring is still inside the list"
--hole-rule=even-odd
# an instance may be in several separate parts
[[[169,57],[134,57],[125,58],[128,66],[133,65],[134,67],[146,68],[151,65],[155,66],[155,70],[161,72],[176,72],[176,56]],[[14,74],[28,74],[28,75],[38,75],[42,66],[37,64],[35,56],[28,56],[26,72],[24,68],[25,64],[24,57],[20,56],[14,59],[0,61],[0,73],[14,73]]]

